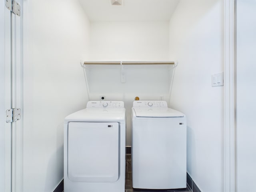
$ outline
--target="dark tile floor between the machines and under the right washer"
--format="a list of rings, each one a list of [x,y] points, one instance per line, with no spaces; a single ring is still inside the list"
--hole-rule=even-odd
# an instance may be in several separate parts
[[[126,154],[126,179],[125,192],[192,192],[187,184],[187,188],[174,190],[135,190],[132,188],[132,160],[131,154]]]

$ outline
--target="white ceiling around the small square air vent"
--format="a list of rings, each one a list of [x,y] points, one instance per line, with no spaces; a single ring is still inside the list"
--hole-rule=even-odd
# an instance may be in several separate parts
[[[179,0],[123,0],[112,6],[110,0],[79,0],[90,21],[168,21]]]

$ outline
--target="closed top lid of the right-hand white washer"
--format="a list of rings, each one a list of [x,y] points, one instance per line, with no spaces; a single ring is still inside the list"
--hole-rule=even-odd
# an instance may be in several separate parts
[[[168,107],[155,107],[155,108],[136,108],[134,107],[136,117],[184,117],[182,112],[168,108]]]

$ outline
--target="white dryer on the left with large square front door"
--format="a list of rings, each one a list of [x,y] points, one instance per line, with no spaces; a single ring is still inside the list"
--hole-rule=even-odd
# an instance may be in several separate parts
[[[124,192],[125,108],[89,101],[64,120],[64,191]]]

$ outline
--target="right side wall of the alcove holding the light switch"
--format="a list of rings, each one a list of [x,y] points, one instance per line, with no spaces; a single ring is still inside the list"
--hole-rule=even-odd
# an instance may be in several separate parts
[[[181,0],[170,19],[170,58],[179,61],[170,106],[187,116],[187,171],[202,192],[223,191],[222,0]]]

